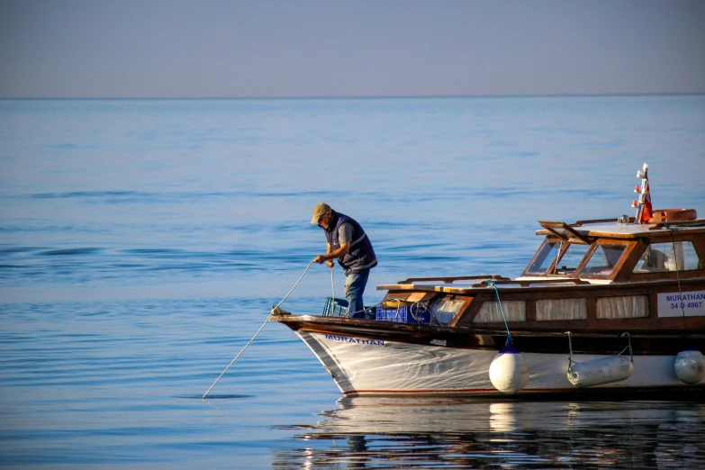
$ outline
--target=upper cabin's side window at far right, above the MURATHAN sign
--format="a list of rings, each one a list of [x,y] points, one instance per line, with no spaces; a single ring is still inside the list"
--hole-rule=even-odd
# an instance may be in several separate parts
[[[664,273],[702,269],[702,261],[691,241],[652,243],[639,258],[634,273]]]

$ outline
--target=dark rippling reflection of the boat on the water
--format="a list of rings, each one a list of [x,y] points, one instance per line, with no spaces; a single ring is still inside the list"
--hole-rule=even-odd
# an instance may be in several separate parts
[[[275,467],[701,468],[705,403],[342,398]]]

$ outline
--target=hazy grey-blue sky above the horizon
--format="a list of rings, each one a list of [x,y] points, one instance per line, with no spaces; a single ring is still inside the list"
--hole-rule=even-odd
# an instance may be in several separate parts
[[[705,93],[705,0],[0,0],[0,98]]]

